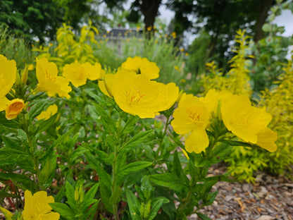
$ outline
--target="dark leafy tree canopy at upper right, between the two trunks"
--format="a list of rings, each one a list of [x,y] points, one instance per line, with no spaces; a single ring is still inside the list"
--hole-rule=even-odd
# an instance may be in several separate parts
[[[197,33],[204,28],[211,36],[207,57],[218,54],[218,62],[224,66],[225,60],[230,59],[227,49],[236,30],[247,29],[248,35],[253,36],[254,32],[261,35],[263,19],[268,16],[268,10],[263,6],[270,8],[272,4],[273,0],[197,0],[195,3],[170,0],[167,6],[175,11],[177,35],[182,35],[185,30]]]

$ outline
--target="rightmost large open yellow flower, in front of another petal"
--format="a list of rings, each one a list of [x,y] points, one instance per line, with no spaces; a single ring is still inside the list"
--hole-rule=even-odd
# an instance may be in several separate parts
[[[249,97],[244,95],[232,95],[225,99],[220,111],[226,128],[252,144],[256,144],[258,133],[268,126],[272,118],[266,109],[251,106]]]

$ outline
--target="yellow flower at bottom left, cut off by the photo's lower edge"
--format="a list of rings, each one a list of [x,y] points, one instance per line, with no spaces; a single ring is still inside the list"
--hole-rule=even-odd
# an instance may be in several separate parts
[[[47,196],[45,191],[39,191],[32,195],[29,190],[25,191],[25,208],[23,210],[23,220],[58,220],[60,214],[51,212],[49,203],[53,203],[54,197]]]

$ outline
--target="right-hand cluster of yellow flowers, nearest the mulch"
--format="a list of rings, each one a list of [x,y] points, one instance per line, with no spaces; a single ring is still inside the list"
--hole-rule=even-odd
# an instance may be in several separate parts
[[[223,120],[227,130],[245,142],[258,145],[275,152],[277,134],[267,126],[271,116],[266,109],[251,106],[247,96],[232,94],[228,91],[210,90],[206,97],[184,94],[171,122],[176,133],[189,134],[185,141],[187,152],[200,153],[208,147],[206,134],[209,118]]]

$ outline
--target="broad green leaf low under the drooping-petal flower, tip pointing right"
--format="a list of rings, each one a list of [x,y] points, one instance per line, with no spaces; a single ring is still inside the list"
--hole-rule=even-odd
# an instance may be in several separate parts
[[[182,183],[182,180],[173,173],[154,174],[149,176],[149,180],[157,185],[162,185],[177,192],[187,192],[189,188]]]

